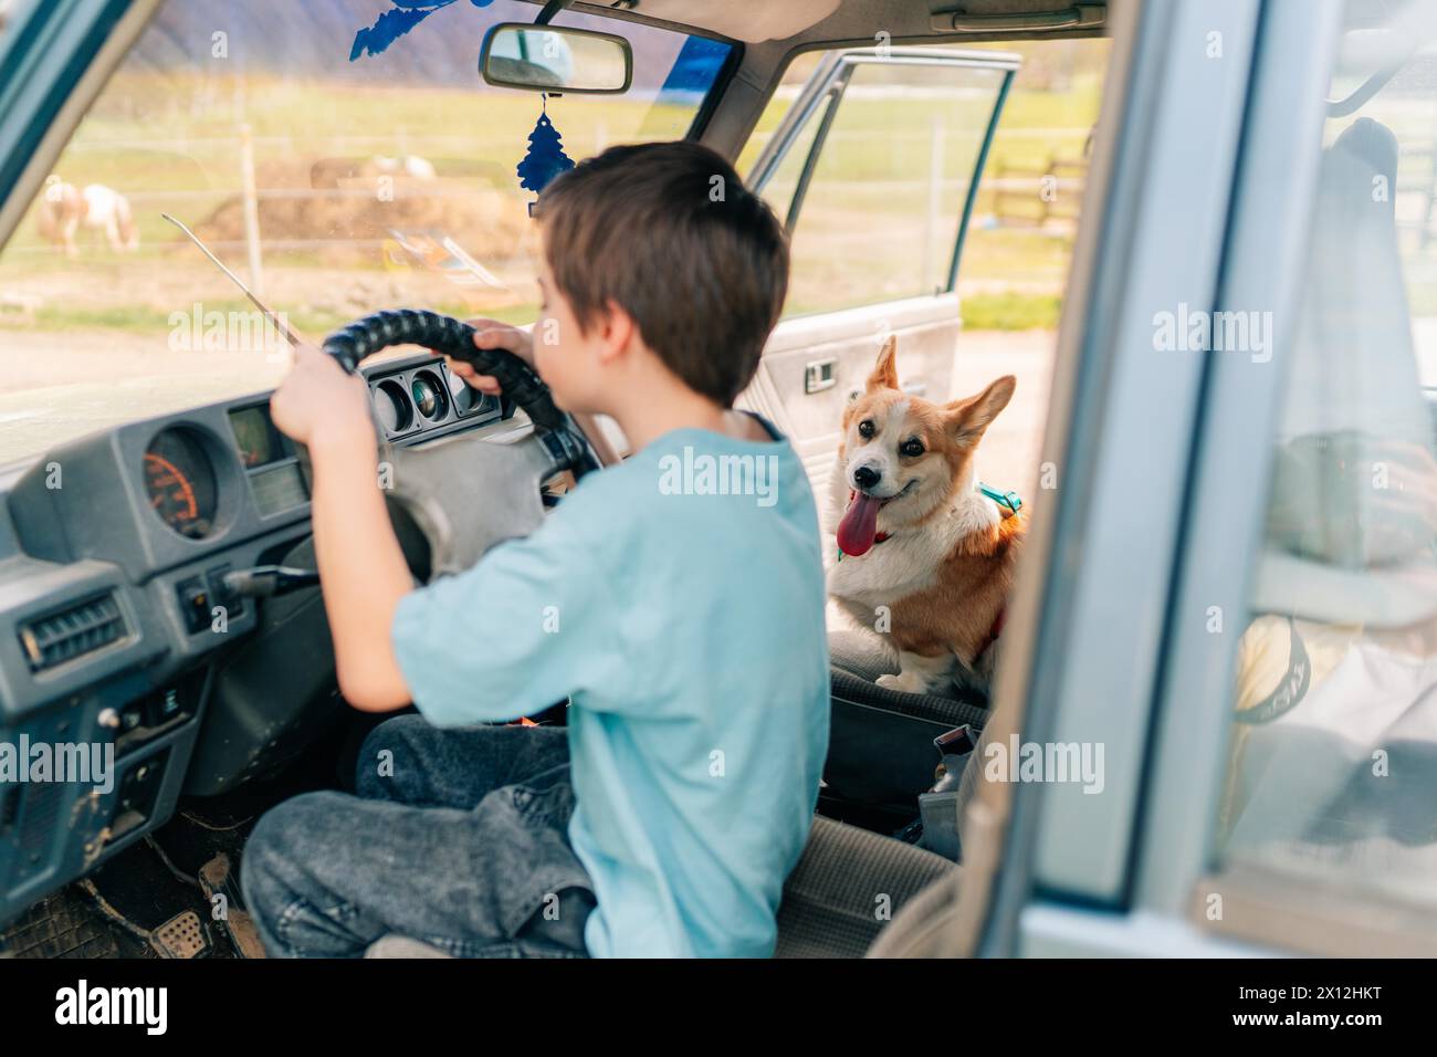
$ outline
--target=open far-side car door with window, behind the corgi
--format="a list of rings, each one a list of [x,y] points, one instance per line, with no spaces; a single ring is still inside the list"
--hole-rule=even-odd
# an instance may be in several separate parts
[[[749,183],[785,221],[792,265],[744,404],[789,434],[818,495],[844,404],[888,335],[904,388],[950,397],[963,240],[1017,68],[999,52],[831,53],[754,161]]]

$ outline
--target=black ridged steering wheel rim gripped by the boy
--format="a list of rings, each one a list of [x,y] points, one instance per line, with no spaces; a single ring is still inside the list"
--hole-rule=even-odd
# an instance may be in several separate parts
[[[476,328],[461,319],[427,309],[401,308],[374,312],[325,338],[323,351],[346,372],[375,352],[392,345],[422,345],[441,355],[473,364],[480,374],[494,377],[504,397],[513,400],[533,423],[535,436],[549,449],[556,470],[581,477],[598,469],[583,430],[553,403],[553,394],[539,374],[509,349],[474,345]]]

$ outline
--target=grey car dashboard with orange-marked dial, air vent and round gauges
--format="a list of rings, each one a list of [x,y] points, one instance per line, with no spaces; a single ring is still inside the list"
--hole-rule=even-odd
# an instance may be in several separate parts
[[[527,429],[434,355],[361,374],[397,446]],[[319,591],[227,588],[227,572],[274,564],[312,569],[313,554],[269,394],[0,467],[0,745],[114,754],[103,782],[0,782],[0,922],[168,821],[181,792],[292,759],[342,708]]]

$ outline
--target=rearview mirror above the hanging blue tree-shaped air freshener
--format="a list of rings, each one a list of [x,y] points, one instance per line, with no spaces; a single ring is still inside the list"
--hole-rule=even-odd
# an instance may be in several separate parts
[[[484,35],[479,69],[500,88],[605,95],[628,91],[634,50],[612,33],[502,22]]]

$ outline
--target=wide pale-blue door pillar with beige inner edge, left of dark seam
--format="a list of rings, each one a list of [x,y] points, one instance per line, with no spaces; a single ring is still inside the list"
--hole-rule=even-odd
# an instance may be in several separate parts
[[[984,830],[1003,824],[1004,798],[1009,818],[977,953],[1157,938],[1152,916],[1125,912],[1206,358],[1157,352],[1152,314],[1219,296],[1260,6],[1142,4],[1114,26],[1042,454],[1059,482],[1035,502],[994,703],[1023,741],[1102,742],[1106,794],[1019,782],[983,797]],[[1220,65],[1204,55],[1211,32]],[[1141,511],[1115,521],[1114,503]],[[1203,943],[1186,922],[1163,926]]]

